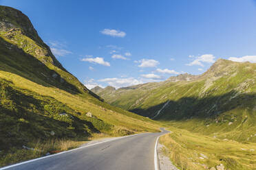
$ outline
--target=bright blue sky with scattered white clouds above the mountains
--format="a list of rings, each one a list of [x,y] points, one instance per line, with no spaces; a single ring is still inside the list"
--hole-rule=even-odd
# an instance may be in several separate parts
[[[253,0],[0,4],[28,15],[56,58],[88,88],[201,74],[217,58],[256,62]]]

